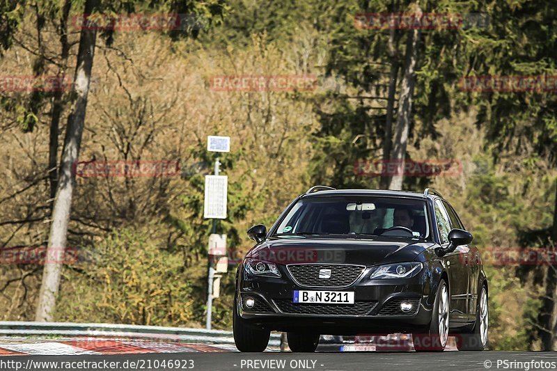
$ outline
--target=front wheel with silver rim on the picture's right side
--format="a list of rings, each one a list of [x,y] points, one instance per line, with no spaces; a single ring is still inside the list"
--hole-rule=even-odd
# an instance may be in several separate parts
[[[413,333],[412,341],[416,352],[442,352],[448,340],[448,316],[450,298],[445,280],[439,281],[433,306],[430,328],[425,333]]]

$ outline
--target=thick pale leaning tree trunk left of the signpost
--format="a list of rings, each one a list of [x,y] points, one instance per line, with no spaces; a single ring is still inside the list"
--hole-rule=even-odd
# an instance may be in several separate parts
[[[98,0],[86,0],[84,13],[93,13],[97,8],[97,4]],[[68,127],[65,133],[60,164],[60,179],[52,212],[52,225],[50,226],[45,269],[42,272],[42,285],[40,287],[36,312],[36,321],[39,322],[52,321],[54,316],[63,262],[60,261],[61,259],[53,257],[63,257],[65,255],[63,251],[65,251],[72,194],[75,187],[75,174],[72,173],[72,164],[79,157],[96,39],[97,31],[95,29],[81,29],[74,76],[74,91],[72,91],[76,98],[72,113],[68,118]]]

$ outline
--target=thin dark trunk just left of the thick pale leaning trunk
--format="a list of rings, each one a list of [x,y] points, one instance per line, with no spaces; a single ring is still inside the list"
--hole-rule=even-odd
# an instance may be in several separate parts
[[[58,69],[58,79],[65,79],[65,72],[68,66],[68,56],[70,54],[70,44],[68,44],[68,16],[70,15],[71,3],[70,0],[64,1],[62,8],[62,15],[60,17],[60,35],[61,44],[61,67]],[[49,151],[48,151],[48,172],[50,182],[50,202],[54,201],[56,197],[56,188],[58,186],[58,168],[56,166],[58,159],[58,131],[60,128],[60,116],[62,114],[64,104],[62,102],[63,89],[60,88],[54,92],[52,99],[52,111],[50,118],[50,138],[49,138]],[[51,205],[54,205],[52,203]],[[53,210],[54,207],[51,207]]]

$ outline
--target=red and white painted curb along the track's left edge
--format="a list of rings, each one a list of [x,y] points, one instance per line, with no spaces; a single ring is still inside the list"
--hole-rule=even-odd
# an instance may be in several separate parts
[[[205,345],[145,340],[100,340],[95,338],[63,341],[0,339],[0,356],[72,356],[81,354],[146,354],[182,352],[237,352],[233,345]]]

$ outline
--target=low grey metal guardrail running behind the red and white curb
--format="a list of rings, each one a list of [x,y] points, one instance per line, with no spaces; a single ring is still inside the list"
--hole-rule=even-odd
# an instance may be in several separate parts
[[[141,326],[136,324],[0,321],[0,335],[112,336],[116,338],[234,344],[232,331]],[[280,345],[280,334],[272,333],[269,339],[269,346],[279,347]]]

